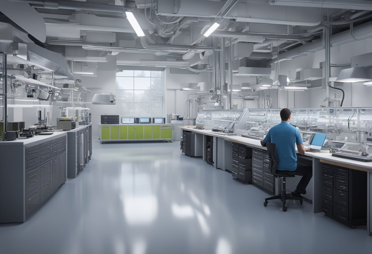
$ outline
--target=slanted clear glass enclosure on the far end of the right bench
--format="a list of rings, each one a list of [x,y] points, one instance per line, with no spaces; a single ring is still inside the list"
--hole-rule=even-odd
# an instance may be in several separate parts
[[[230,123],[237,123],[242,113],[243,110],[200,110],[195,123],[206,129],[225,130]]]

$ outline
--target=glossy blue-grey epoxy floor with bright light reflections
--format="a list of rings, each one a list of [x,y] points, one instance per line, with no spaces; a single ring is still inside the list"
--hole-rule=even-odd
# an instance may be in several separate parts
[[[93,160],[22,224],[0,224],[0,253],[371,253],[366,227],[350,229],[311,204],[280,201],[179,142],[93,143]],[[0,208],[1,209],[1,208]]]

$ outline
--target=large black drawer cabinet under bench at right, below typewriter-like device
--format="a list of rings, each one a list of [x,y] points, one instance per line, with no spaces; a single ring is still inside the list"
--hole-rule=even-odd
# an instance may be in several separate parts
[[[323,212],[350,227],[367,223],[366,172],[323,164]]]

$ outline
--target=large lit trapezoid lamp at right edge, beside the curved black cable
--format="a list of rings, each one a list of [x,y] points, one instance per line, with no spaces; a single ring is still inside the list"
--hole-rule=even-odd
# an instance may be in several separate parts
[[[353,67],[340,71],[336,82],[355,83],[372,80],[372,68]]]

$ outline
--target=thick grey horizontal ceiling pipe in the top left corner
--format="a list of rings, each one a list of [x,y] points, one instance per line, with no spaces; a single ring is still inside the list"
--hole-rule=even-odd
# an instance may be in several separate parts
[[[124,6],[114,4],[88,3],[71,0],[10,0],[13,2],[26,2],[34,8],[42,9],[66,9],[66,10],[90,10],[100,12],[115,12],[124,14]]]

